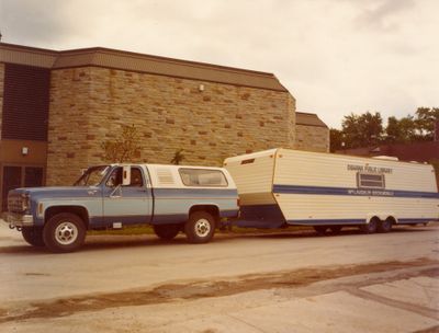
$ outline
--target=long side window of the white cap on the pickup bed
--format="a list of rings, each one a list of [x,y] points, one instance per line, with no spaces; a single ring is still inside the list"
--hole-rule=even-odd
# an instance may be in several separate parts
[[[180,169],[181,181],[187,186],[227,186],[227,180],[219,170]]]

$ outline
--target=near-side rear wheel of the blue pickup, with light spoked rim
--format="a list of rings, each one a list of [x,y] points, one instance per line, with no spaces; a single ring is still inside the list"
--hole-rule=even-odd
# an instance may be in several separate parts
[[[207,243],[215,233],[215,219],[206,211],[194,211],[184,225],[184,232],[190,243]]]

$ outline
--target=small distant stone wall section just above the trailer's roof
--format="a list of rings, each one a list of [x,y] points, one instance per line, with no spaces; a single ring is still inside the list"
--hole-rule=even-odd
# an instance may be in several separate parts
[[[329,128],[296,125],[294,149],[329,152]]]

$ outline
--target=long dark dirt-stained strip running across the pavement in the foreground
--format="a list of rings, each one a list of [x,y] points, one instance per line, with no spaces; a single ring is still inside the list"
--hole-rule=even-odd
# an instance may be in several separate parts
[[[99,311],[116,307],[147,306],[182,300],[195,300],[209,297],[230,296],[261,289],[295,289],[317,282],[370,273],[384,273],[403,268],[418,267],[419,269],[412,273],[405,272],[396,274],[391,279],[401,279],[402,276],[403,278],[419,275],[439,276],[438,264],[439,261],[424,257],[407,262],[392,261],[359,265],[325,266],[301,268],[289,272],[283,271],[267,274],[250,274],[230,277],[229,279],[223,280],[196,280],[185,284],[167,284],[154,289],[136,289],[60,298],[52,301],[30,303],[27,309],[24,309],[19,313],[11,313],[8,309],[0,308],[0,323],[36,318],[59,318],[78,312]],[[375,279],[373,283],[376,280],[380,279]],[[385,279],[385,282],[389,280],[389,278]],[[367,284],[371,283],[372,280],[367,282]],[[358,288],[359,285],[362,284],[364,284],[364,282],[361,284],[357,283],[356,287]],[[346,285],[346,287],[349,287],[349,285]]]

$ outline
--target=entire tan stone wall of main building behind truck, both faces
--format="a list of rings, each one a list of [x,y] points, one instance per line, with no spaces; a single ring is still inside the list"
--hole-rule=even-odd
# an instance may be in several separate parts
[[[221,165],[226,157],[293,148],[289,92],[87,67],[52,71],[47,185],[69,184],[103,163],[101,142],[138,129],[136,162]],[[203,89],[200,89],[203,84]]]

